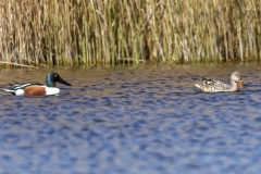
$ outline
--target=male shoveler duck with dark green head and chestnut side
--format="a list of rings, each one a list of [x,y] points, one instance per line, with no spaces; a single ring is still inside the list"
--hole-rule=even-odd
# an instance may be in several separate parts
[[[60,89],[55,87],[55,83],[61,83],[66,86],[72,86],[60,77],[58,73],[49,73],[46,77],[47,86],[40,84],[24,84],[14,85],[10,89],[3,89],[15,96],[47,96],[58,95]]]

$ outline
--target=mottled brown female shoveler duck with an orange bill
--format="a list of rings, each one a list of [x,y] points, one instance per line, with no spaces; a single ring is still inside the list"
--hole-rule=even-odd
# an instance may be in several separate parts
[[[239,72],[233,72],[231,75],[231,85],[223,82],[210,78],[202,78],[202,85],[195,84],[196,87],[202,89],[206,92],[217,92],[217,91],[238,91],[237,85],[241,88],[246,88],[241,80],[241,75]]]

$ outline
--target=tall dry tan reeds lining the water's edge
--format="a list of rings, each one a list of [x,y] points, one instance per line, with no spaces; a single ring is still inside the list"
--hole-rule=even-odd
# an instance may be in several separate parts
[[[260,0],[1,0],[0,61],[260,60]]]

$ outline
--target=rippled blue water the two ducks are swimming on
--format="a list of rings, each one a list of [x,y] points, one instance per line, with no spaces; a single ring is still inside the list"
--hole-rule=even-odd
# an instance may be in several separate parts
[[[240,92],[203,94],[201,76]],[[3,174],[258,174],[261,171],[261,73],[254,64],[140,65],[54,70],[72,87],[60,96],[0,92]],[[0,86],[36,80],[49,70],[2,70]]]

